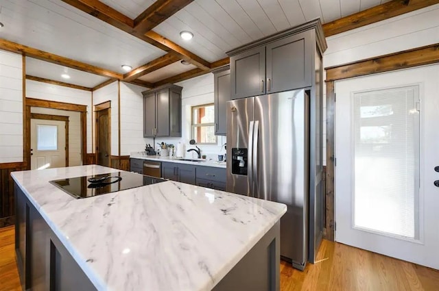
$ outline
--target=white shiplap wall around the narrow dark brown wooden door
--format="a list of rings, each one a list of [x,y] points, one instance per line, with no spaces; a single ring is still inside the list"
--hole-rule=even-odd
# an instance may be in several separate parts
[[[93,105],[111,101],[111,155],[119,155],[119,88],[117,81],[93,92]],[[93,118],[93,121],[95,119]],[[93,132],[93,135],[95,133]],[[93,149],[95,152],[95,149]]]

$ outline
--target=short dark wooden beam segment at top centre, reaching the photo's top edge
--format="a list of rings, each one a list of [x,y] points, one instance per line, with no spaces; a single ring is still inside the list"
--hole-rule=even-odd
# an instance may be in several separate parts
[[[134,30],[145,33],[185,8],[193,0],[157,0],[137,18],[134,19]]]

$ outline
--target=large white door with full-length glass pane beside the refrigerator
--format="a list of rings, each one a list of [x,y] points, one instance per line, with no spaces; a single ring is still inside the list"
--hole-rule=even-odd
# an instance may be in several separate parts
[[[337,242],[439,269],[438,80],[434,65],[335,83]]]

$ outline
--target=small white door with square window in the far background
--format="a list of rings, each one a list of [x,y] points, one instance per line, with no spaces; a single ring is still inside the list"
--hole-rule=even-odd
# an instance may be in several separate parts
[[[66,166],[65,121],[31,119],[31,169],[60,168]]]

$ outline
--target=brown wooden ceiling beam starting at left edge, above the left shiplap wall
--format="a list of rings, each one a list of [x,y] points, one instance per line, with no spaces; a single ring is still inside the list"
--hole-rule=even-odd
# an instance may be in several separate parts
[[[27,47],[25,45],[20,45],[15,42],[10,42],[9,40],[4,40],[0,38],[0,49],[5,51],[12,51],[14,53],[21,53],[27,57],[36,58],[38,60],[43,60],[46,62],[51,62],[52,64],[59,64],[61,66],[68,66],[69,68],[75,68],[80,71],[87,73],[92,73],[104,77],[121,79],[122,74],[115,73],[104,68],[99,68],[97,66],[92,66],[91,64],[85,64],[83,62],[78,62],[76,60],[71,60],[69,58],[64,58],[60,55],[54,55],[53,53],[47,53],[46,51],[40,51],[39,49],[34,49],[32,47]]]

